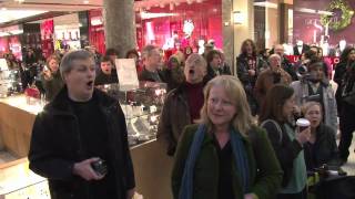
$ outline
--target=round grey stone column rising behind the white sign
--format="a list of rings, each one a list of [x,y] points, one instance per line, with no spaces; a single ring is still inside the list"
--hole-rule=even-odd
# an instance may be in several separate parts
[[[103,0],[103,18],[106,49],[113,48],[123,57],[135,49],[135,18],[133,0]]]

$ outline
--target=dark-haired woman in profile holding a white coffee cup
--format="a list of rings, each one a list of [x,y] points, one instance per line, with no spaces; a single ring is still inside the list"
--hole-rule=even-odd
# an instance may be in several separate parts
[[[293,88],[276,84],[267,92],[258,118],[284,170],[277,199],[306,198],[307,172],[302,146],[310,139],[311,130],[295,132],[291,124],[294,109]]]

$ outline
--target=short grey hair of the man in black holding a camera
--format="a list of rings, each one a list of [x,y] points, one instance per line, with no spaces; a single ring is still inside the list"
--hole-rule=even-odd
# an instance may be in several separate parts
[[[60,75],[62,78],[64,77],[63,75],[69,73],[72,67],[73,67],[73,62],[77,60],[88,60],[88,59],[93,59],[92,53],[85,50],[77,50],[77,51],[71,51],[67,53],[62,61],[60,62]]]

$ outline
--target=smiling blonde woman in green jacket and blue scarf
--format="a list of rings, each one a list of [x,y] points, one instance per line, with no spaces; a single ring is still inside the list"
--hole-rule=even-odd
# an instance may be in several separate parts
[[[172,172],[174,199],[267,199],[282,170],[264,130],[253,124],[234,76],[207,83],[200,124],[185,127]]]

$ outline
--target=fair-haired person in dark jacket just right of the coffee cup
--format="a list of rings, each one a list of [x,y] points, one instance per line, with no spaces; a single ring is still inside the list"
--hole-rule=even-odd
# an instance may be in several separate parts
[[[322,105],[308,102],[303,105],[302,113],[311,123],[311,138],[303,145],[307,170],[320,168],[323,164],[338,166],[335,133],[322,123]]]

